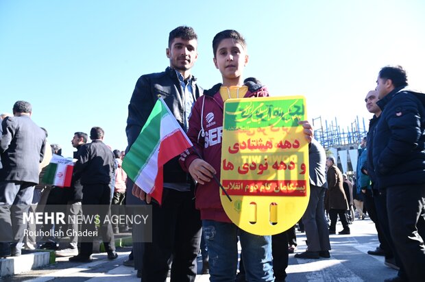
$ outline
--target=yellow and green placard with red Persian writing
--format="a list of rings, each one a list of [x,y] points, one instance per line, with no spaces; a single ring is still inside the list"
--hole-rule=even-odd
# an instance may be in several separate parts
[[[286,231],[308,205],[308,142],[302,96],[229,99],[224,104],[221,204],[257,235]]]

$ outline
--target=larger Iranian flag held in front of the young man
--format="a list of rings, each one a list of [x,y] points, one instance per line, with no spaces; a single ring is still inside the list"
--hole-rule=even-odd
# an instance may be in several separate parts
[[[138,187],[162,202],[162,167],[193,146],[162,98],[123,160],[123,170]]]

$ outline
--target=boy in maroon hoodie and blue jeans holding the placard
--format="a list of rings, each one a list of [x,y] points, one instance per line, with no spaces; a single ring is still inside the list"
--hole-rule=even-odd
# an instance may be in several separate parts
[[[267,97],[267,89],[250,81],[243,84],[243,69],[248,63],[245,39],[234,30],[219,32],[213,39],[214,64],[223,84],[204,91],[197,99],[189,119],[188,136],[195,151],[183,154],[180,162],[197,181],[196,207],[201,211],[208,255],[210,281],[234,281],[238,260],[237,236],[243,248],[248,281],[274,281],[271,257],[271,236],[260,236],[239,229],[226,215],[219,198],[221,132],[224,101],[234,98]],[[206,118],[206,115],[209,115]],[[213,115],[211,115],[213,114]],[[213,116],[213,118],[211,118]]]

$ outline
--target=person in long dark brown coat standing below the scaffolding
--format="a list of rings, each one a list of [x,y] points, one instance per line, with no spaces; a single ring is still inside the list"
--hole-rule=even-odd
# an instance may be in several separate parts
[[[350,227],[348,227],[347,215],[345,214],[345,211],[348,210],[348,203],[343,188],[341,170],[339,170],[339,168],[335,165],[334,157],[328,157],[326,159],[326,166],[328,166],[326,180],[328,181],[329,192],[329,233],[336,233],[335,228],[337,226],[337,219],[339,216],[343,226],[343,231],[340,231],[339,234],[350,234]]]

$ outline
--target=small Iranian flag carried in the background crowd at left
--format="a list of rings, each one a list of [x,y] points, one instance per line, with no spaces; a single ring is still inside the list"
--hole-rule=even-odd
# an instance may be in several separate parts
[[[70,187],[73,169],[74,163],[72,159],[53,154],[41,181],[58,187]]]

